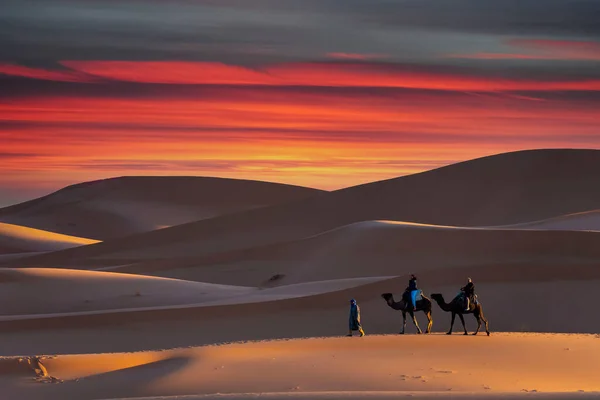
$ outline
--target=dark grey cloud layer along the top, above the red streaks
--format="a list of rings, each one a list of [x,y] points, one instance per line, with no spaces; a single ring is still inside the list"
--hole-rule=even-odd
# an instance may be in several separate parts
[[[598,20],[597,0],[4,0],[0,59],[252,65],[344,52],[448,64],[436,55],[506,37],[598,40]]]

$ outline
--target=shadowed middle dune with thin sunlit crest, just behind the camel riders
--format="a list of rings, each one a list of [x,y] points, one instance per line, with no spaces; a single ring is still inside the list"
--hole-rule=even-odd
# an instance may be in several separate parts
[[[122,265],[118,271],[252,286],[456,269],[477,276],[518,270],[531,279],[548,280],[571,279],[569,266],[584,274],[580,276],[600,276],[596,272],[600,271],[597,232],[365,221],[299,241],[242,251],[183,257],[185,252],[179,250],[166,252],[165,259]],[[277,279],[271,281],[273,277]]]

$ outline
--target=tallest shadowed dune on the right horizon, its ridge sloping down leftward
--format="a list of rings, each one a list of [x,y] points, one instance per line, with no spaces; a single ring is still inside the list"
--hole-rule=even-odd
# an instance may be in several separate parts
[[[541,220],[597,209],[598,170],[598,150],[506,153],[67,250],[39,262],[188,257],[298,240],[366,220],[453,226]]]

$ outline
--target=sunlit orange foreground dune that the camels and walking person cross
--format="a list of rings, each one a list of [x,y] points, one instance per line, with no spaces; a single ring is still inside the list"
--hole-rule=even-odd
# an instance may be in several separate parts
[[[591,335],[367,336],[42,358],[47,374],[61,382],[53,385],[31,382],[33,371],[8,359],[0,379],[4,395],[23,399],[217,393],[305,393],[312,399],[323,392],[340,398],[353,392],[413,398],[582,391],[597,396],[599,358],[600,341]]]

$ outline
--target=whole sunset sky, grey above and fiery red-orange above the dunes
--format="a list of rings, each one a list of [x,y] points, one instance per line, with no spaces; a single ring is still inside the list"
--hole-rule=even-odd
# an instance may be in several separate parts
[[[600,148],[599,20],[597,0],[2,0],[0,206]]]

